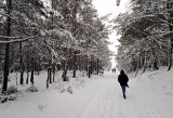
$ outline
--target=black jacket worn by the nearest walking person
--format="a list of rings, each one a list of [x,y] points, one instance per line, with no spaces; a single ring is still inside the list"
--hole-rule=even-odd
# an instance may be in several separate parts
[[[129,78],[125,74],[120,74],[118,76],[118,82],[120,83],[120,86],[128,86],[128,81],[129,81]]]

